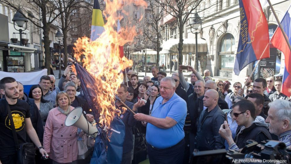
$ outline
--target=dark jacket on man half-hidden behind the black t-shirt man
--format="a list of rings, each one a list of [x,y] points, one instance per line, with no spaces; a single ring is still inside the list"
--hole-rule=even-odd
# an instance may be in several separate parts
[[[43,124],[42,124],[42,117],[40,116],[40,112],[34,103],[34,99],[28,98],[27,94],[24,93],[22,100],[25,100],[29,105],[30,110],[30,120],[32,123],[33,128],[38,136],[39,141],[42,143],[43,139]],[[29,138],[29,137],[28,137]]]

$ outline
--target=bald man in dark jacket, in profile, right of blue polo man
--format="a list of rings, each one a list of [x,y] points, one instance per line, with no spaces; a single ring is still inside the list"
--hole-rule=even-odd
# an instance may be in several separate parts
[[[224,139],[219,135],[219,128],[225,117],[218,106],[218,99],[218,92],[214,89],[204,94],[203,105],[207,108],[199,118],[194,151],[224,149]]]

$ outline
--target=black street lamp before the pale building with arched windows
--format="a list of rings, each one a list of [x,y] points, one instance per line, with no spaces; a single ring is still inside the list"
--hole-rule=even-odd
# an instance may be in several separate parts
[[[198,44],[197,44],[197,34],[199,32],[202,31],[202,20],[200,18],[200,16],[198,15],[198,13],[196,12],[194,14],[194,19],[190,20],[190,26],[191,26],[191,32],[192,32],[192,28],[196,30],[196,32],[192,32],[193,34],[195,33],[195,46],[196,46],[196,70],[199,71],[199,67],[198,67]],[[193,26],[193,27],[192,27]],[[199,29],[200,26],[200,30],[199,32],[197,32],[197,30]]]

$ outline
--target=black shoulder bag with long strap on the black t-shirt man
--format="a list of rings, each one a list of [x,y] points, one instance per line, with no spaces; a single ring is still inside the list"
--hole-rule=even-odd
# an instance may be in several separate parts
[[[8,102],[6,101],[6,109],[9,115],[12,134],[17,152],[17,164],[35,164],[35,145],[32,143],[18,144],[16,130]]]

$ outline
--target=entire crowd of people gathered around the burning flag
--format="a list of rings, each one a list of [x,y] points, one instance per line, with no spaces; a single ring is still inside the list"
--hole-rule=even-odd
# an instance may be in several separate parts
[[[184,66],[185,67],[185,66]],[[241,149],[246,141],[279,140],[291,145],[291,102],[281,93],[282,76],[266,79],[245,78],[245,84],[215,81],[209,70],[203,76],[193,67],[190,81],[182,66],[172,77],[152,67],[153,77],[142,81],[134,71],[120,84],[115,102],[125,125],[122,164],[149,158],[152,164],[189,163],[191,154],[214,149]],[[232,86],[232,87],[231,87]],[[243,86],[245,86],[243,88]],[[20,143],[38,148],[36,163],[88,163],[78,159],[77,127],[65,126],[66,115],[81,107],[89,122],[90,114],[80,80],[69,65],[55,85],[53,75],[40,77],[39,84],[23,92],[23,84],[12,77],[0,80],[0,163],[16,163],[16,149],[5,105],[8,103]],[[145,101],[142,101],[145,100]],[[124,104],[132,109],[124,111]],[[146,150],[135,152],[135,130],[145,134]],[[82,138],[81,138],[82,139]],[[49,155],[49,160],[40,157]]]

